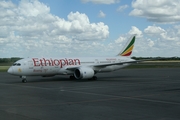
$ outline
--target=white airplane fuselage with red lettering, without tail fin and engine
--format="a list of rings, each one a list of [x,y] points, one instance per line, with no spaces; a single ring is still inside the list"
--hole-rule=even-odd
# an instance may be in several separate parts
[[[98,72],[111,72],[129,65],[134,61],[128,57],[82,57],[82,58],[26,58],[15,62],[8,73],[18,76],[73,75],[80,67],[91,68]],[[127,63],[126,63],[127,62]],[[117,63],[117,64],[116,64]],[[123,64],[119,64],[123,63]]]

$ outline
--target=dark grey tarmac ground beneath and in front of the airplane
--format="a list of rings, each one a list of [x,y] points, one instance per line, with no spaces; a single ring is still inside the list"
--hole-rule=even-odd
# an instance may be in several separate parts
[[[179,120],[180,68],[121,69],[98,80],[0,73],[0,120]]]

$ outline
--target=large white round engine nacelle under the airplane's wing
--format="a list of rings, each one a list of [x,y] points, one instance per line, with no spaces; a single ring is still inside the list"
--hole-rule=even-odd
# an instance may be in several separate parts
[[[94,76],[94,70],[90,67],[80,67],[74,71],[76,79],[89,79]]]

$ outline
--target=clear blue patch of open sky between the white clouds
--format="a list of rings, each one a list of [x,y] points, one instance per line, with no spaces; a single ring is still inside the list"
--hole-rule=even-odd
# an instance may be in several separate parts
[[[52,6],[51,13],[61,18],[67,19],[67,15],[70,12],[85,13],[90,22],[97,23],[103,22],[111,29],[110,37],[116,39],[120,34],[126,33],[131,29],[131,26],[143,26],[148,24],[145,19],[136,19],[133,16],[129,16],[131,8],[131,0],[121,0],[116,4],[96,4],[93,2],[83,3],[80,0],[40,0],[48,6]],[[128,8],[122,12],[118,12],[119,6],[128,5]],[[102,11],[106,14],[106,17],[98,17],[99,12]]]

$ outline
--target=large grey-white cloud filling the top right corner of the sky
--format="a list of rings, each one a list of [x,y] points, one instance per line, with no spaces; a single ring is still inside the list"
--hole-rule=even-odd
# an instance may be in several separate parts
[[[180,21],[179,6],[178,0],[135,0],[130,15],[157,23],[176,23]]]

